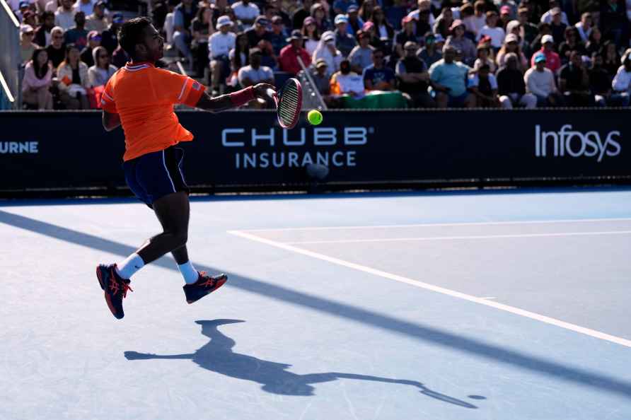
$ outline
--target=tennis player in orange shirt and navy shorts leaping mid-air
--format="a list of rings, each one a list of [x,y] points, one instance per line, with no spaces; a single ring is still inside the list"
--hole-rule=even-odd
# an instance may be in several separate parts
[[[221,287],[228,276],[197,272],[188,259],[189,200],[182,173],[184,152],[175,147],[193,136],[178,122],[173,105],[183,103],[210,112],[239,107],[266,98],[274,86],[259,83],[229,95],[211,98],[192,78],[156,69],[163,57],[164,40],[148,18],[134,18],[122,25],[120,45],[132,61],[118,70],[103,91],[103,127],[108,132],[122,125],[125,131],[123,168],[132,192],[153,209],[163,232],[146,240],[118,264],[96,268],[105,301],[118,319],[125,316],[122,299],[131,277],[146,264],[171,252],[185,281],[184,294],[193,303]]]

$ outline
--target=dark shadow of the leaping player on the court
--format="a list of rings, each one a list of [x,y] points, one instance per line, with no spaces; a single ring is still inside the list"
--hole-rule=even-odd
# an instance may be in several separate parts
[[[232,351],[236,342],[230,337],[222,334],[217,327],[219,325],[233,324],[236,322],[245,322],[242,320],[212,320],[212,321],[195,321],[202,325],[202,334],[210,338],[210,342],[191,354],[146,354],[137,351],[125,351],[125,357],[128,360],[148,360],[154,358],[187,358],[204,369],[221,373],[243,380],[251,380],[262,385],[262,390],[281,395],[314,395],[315,388],[312,386],[316,383],[331,382],[333,380],[357,379],[371,380],[374,382],[393,383],[400,385],[410,385],[417,387],[419,392],[428,397],[439,399],[449,404],[456,404],[461,407],[475,409],[475,405],[460,399],[443,395],[439,392],[429,390],[422,383],[415,380],[380,378],[371,375],[357,375],[354,373],[308,373],[299,375],[291,373],[286,369],[291,365],[286,363],[277,363],[266,361],[245,354],[238,354]]]

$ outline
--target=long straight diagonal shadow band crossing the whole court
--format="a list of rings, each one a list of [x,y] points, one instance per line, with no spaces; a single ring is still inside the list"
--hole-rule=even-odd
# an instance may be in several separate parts
[[[130,247],[122,243],[112,240],[99,238],[95,235],[73,231],[69,228],[57,226],[52,223],[38,221],[34,218],[11,214],[0,210],[0,223],[9,226],[21,228],[26,231],[40,233],[59,240],[65,240],[69,243],[91,247],[93,249],[110,252],[112,254],[127,257],[127,255],[136,251],[135,247]],[[94,262],[97,264],[98,262]],[[158,259],[151,264],[157,264],[159,267],[178,271],[175,262],[168,258]],[[224,270],[207,267],[197,262],[195,267],[209,273],[223,272]],[[93,272],[86,275],[93,275]],[[627,399],[631,399],[631,383],[613,378],[610,375],[602,375],[586,369],[565,366],[562,363],[547,361],[545,358],[531,356],[519,351],[504,349],[500,346],[486,344],[477,339],[461,337],[456,334],[444,332],[436,327],[427,325],[419,325],[412,322],[398,320],[395,317],[376,313],[371,310],[359,308],[353,305],[347,305],[336,301],[330,301],[325,298],[313,296],[308,293],[293,291],[290,288],[270,284],[265,281],[250,279],[243,276],[230,275],[230,280],[226,284],[227,287],[236,287],[238,289],[257,293],[260,296],[290,303],[291,305],[299,305],[303,308],[309,308],[321,313],[335,315],[347,320],[359,322],[364,325],[383,329],[387,332],[402,334],[407,337],[413,337],[422,342],[430,342],[444,346],[447,349],[461,351],[473,356],[486,358],[495,363],[504,363],[515,368],[521,368],[534,373],[549,375],[551,377],[564,380],[568,383],[591,387],[599,391],[612,392],[622,395]],[[224,287],[226,287],[224,286]]]

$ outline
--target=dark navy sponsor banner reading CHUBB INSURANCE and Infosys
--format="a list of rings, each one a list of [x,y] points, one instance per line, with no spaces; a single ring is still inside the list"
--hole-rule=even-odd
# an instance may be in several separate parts
[[[278,126],[274,112],[179,112],[195,140],[187,182],[306,182],[311,163],[328,182],[571,178],[631,175],[625,110],[347,111],[323,123]],[[0,113],[0,189],[120,187],[124,134],[99,112]],[[156,136],[160,133],[156,132]]]

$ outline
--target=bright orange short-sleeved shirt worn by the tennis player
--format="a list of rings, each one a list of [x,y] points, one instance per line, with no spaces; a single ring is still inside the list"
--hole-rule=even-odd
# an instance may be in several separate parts
[[[173,105],[194,107],[204,86],[188,76],[156,69],[150,63],[127,63],[105,85],[101,106],[120,115],[125,132],[123,161],[161,151],[193,135],[182,127]]]

